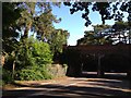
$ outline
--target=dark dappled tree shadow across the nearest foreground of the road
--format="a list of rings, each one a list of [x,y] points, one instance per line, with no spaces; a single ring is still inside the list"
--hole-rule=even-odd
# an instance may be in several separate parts
[[[122,91],[120,89],[109,89],[103,87],[86,87],[86,86],[68,86],[64,87],[62,85],[43,85],[39,86],[41,89],[20,89],[20,90],[11,90],[4,93],[2,98],[17,98],[20,96],[28,96],[31,97],[55,97],[55,98],[69,98],[69,97],[84,97],[84,98],[105,98],[105,97],[119,97],[119,98],[130,98],[131,93]],[[51,89],[50,89],[51,88]],[[7,95],[5,95],[7,94]],[[10,97],[11,98],[11,97]]]

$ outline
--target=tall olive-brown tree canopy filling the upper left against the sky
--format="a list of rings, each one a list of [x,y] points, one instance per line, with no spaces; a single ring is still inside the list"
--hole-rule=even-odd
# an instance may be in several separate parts
[[[17,38],[27,38],[33,32],[47,38],[59,23],[60,19],[51,12],[51,5],[60,7],[59,2],[3,2],[2,3],[2,42],[3,50],[14,50]],[[10,15],[8,15],[10,14]]]

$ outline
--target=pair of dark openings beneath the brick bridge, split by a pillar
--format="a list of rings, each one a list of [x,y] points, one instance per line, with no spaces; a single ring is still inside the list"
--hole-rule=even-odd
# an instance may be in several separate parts
[[[100,66],[98,66],[100,65]],[[121,54],[85,54],[82,62],[82,76],[97,76],[100,72],[105,76],[128,76],[127,69],[130,69],[130,60]]]

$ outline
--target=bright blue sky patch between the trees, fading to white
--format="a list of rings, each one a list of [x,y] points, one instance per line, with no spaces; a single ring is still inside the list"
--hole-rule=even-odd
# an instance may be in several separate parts
[[[92,25],[88,27],[84,26],[85,20],[81,17],[81,11],[70,14],[70,8],[61,4],[60,8],[52,7],[52,13],[57,15],[58,19],[62,19],[60,23],[53,24],[55,27],[66,29],[70,33],[70,37],[68,39],[68,45],[70,46],[75,46],[76,40],[84,36],[85,30],[92,30],[92,25],[102,24],[98,12],[90,12],[88,17],[92,21]],[[112,25],[114,23],[115,21],[112,20],[106,21],[106,24],[109,25]]]

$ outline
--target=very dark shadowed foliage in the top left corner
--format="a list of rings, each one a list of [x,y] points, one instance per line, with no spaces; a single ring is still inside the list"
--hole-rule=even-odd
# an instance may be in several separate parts
[[[16,20],[20,17],[20,9],[15,9],[16,3],[3,2],[2,3],[2,38],[17,37],[15,32]],[[10,15],[8,15],[10,14]]]

